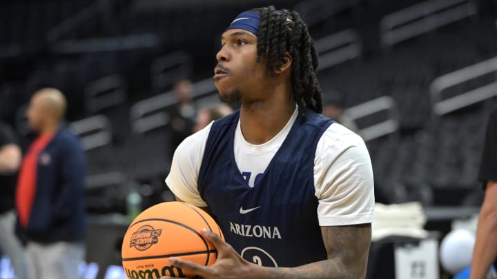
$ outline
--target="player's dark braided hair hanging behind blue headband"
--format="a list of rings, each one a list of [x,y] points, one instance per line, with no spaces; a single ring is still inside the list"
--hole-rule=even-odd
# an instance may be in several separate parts
[[[251,11],[261,16],[257,31],[257,61],[266,56],[267,68],[274,76],[274,70],[283,65],[285,52],[289,52],[292,56],[293,99],[299,114],[305,116],[305,108],[322,112],[322,90],[315,75],[318,53],[298,12],[275,10],[274,6]]]

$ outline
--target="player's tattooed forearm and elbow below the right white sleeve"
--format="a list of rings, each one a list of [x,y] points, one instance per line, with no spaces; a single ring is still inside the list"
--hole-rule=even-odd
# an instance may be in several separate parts
[[[322,227],[328,260],[295,268],[265,269],[264,278],[347,278],[366,276],[371,225]]]

